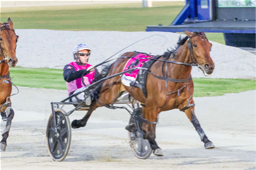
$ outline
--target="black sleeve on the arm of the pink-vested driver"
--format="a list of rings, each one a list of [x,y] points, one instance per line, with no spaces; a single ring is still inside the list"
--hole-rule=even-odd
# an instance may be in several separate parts
[[[79,70],[79,71],[75,71],[75,68],[71,65],[66,65],[64,67],[64,71],[63,71],[63,77],[64,80],[66,82],[71,82],[73,80],[76,80],[78,78],[82,77],[82,74],[86,71],[86,69],[84,70]]]

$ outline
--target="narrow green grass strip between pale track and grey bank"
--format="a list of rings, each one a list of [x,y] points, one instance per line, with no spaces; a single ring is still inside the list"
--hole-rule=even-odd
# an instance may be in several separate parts
[[[61,69],[22,68],[10,69],[13,82],[18,86],[67,89]],[[256,89],[256,81],[247,79],[193,78],[194,97],[221,96]]]

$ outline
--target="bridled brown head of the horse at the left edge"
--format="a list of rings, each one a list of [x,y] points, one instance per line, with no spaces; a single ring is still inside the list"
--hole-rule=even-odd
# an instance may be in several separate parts
[[[8,18],[7,23],[0,23],[0,55],[8,61],[10,67],[15,67],[18,59],[16,58],[16,43],[18,37],[13,29],[13,22]]]

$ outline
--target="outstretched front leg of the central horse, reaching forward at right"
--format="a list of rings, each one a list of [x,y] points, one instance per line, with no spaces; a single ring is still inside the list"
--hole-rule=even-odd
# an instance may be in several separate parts
[[[204,133],[203,129],[201,128],[201,125],[194,113],[194,106],[189,107],[184,112],[187,115],[187,117],[189,118],[189,120],[191,121],[191,123],[193,124],[193,126],[196,128],[196,131],[199,134],[201,141],[204,142],[205,149],[215,148],[215,146],[213,145],[213,142],[208,139],[208,137]]]

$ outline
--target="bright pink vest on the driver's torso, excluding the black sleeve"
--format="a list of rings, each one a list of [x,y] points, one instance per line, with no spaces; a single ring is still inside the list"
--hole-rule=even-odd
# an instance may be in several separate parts
[[[83,70],[83,69],[87,69],[89,68],[90,64],[86,64],[86,65],[78,65],[76,62],[71,62],[68,65],[71,65],[75,68],[75,71],[79,71],[79,70]],[[95,71],[91,71],[90,73],[86,74],[84,76],[84,84],[85,85],[89,85],[92,84],[93,80],[94,80],[94,75],[95,75]],[[75,91],[81,87],[85,87],[82,83],[82,78],[76,79],[74,81],[71,82],[66,82],[67,84],[67,88],[68,88],[68,95],[70,95],[70,93],[72,91]]]

